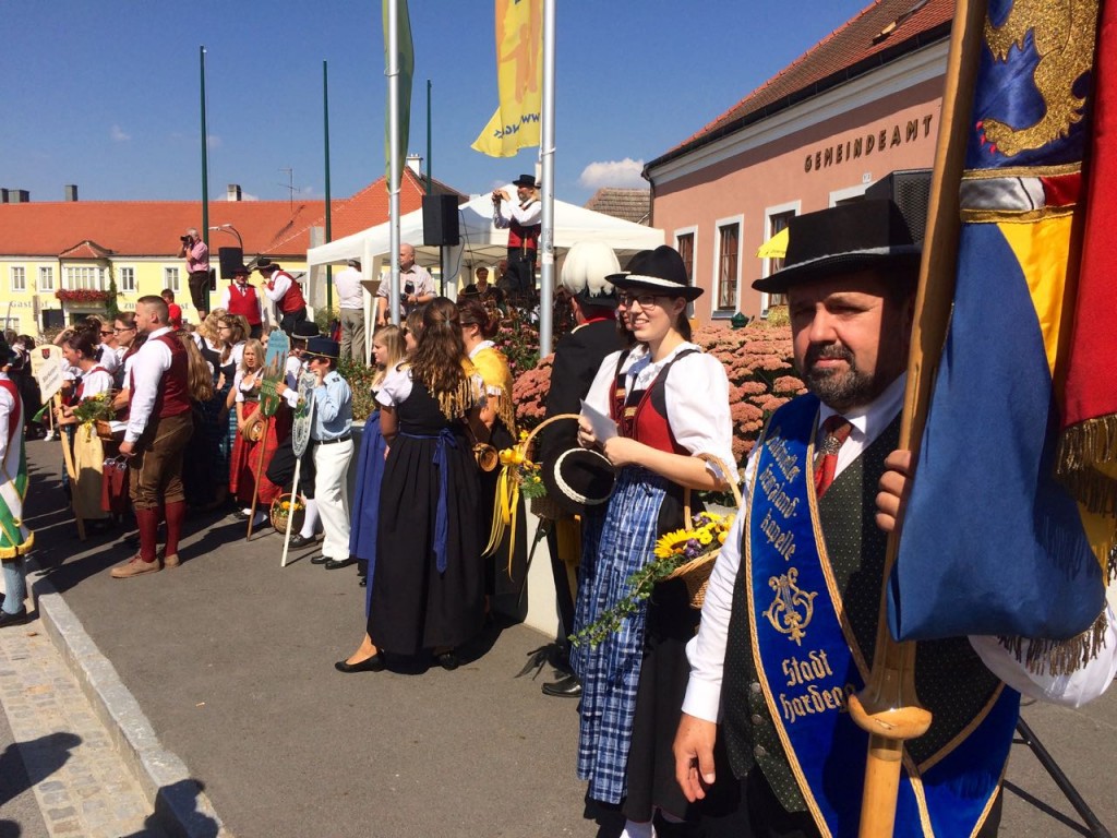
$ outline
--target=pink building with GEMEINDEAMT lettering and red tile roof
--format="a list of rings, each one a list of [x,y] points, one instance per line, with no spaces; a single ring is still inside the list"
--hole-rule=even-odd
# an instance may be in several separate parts
[[[781,260],[755,254],[791,216],[933,164],[953,11],[954,0],[877,0],[647,164],[652,226],[706,289],[696,316],[763,315],[780,301],[751,284]]]

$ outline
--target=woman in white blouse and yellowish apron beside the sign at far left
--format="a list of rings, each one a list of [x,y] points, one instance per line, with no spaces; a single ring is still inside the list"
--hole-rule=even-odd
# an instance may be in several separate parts
[[[74,515],[93,525],[107,526],[109,514],[102,508],[102,480],[105,466],[105,445],[93,422],[78,425],[74,409],[83,401],[102,397],[112,398],[113,375],[97,361],[99,335],[92,330],[74,332],[63,342],[63,358],[70,366],[80,370],[82,378],[70,403],[58,409],[61,426],[76,426],[74,430],[74,475],[70,484]],[[65,440],[64,440],[65,444]],[[114,451],[115,454],[115,451]]]

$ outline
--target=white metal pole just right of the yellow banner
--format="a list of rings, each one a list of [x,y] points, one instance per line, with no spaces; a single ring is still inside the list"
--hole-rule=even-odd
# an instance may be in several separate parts
[[[543,227],[540,230],[540,356],[551,354],[555,288],[555,0],[543,3]]]

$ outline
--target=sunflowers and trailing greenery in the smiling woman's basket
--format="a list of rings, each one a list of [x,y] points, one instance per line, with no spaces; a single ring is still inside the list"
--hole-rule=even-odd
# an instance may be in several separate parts
[[[676,530],[660,536],[656,542],[652,560],[629,575],[627,580],[629,593],[592,623],[571,635],[571,642],[575,646],[583,644],[598,646],[609,635],[618,631],[629,616],[640,609],[641,603],[651,597],[659,582],[672,575],[681,575],[678,571],[685,565],[698,563],[698,560],[707,560],[700,563],[703,565],[712,562],[725,543],[734,517],[734,515],[701,512],[695,516],[690,528]],[[694,568],[697,569],[698,564]]]

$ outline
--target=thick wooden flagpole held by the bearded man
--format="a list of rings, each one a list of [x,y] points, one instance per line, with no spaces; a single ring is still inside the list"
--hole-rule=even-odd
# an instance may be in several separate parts
[[[986,0],[957,0],[946,65],[942,120],[935,152],[927,234],[923,245],[919,289],[916,294],[911,349],[899,447],[919,446],[954,299],[958,249],[958,183],[965,164],[967,120],[973,106],[978,50],[968,49],[981,37]],[[915,691],[915,644],[892,640],[888,630],[888,579],[896,563],[903,521],[888,537],[885,583],[881,588],[877,641],[869,683],[850,696],[849,711],[869,732],[869,750],[861,798],[860,838],[889,838],[896,821],[904,743],[927,732],[932,715]]]

